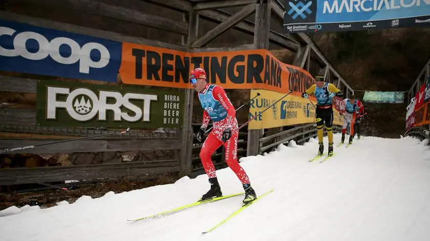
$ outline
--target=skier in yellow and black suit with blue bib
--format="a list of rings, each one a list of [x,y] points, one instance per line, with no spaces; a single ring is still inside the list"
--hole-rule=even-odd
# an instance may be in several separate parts
[[[326,124],[327,136],[329,138],[328,156],[333,155],[333,104],[332,99],[335,96],[342,97],[343,93],[334,86],[334,84],[324,82],[324,77],[316,76],[315,83],[309,89],[302,93],[302,97],[308,98],[313,93],[316,98],[316,129],[318,134],[318,155],[324,152],[324,143],[322,142],[322,127]]]

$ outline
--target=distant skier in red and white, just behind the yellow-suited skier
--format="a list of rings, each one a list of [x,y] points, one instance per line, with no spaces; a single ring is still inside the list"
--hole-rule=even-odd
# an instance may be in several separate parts
[[[354,95],[351,95],[350,98],[343,100],[340,103],[340,113],[342,113],[343,126],[342,126],[342,137],[340,139],[340,143],[345,141],[345,133],[347,132],[347,127],[350,128],[350,138],[349,144],[352,144],[352,139],[354,138],[354,113],[358,113],[363,107],[360,101],[355,99]]]

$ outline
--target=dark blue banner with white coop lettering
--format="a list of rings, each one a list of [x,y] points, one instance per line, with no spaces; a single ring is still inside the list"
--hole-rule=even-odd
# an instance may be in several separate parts
[[[0,70],[116,82],[122,43],[0,20]]]

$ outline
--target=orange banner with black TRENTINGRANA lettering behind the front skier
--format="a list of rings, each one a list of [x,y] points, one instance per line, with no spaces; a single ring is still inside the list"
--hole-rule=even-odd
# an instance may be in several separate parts
[[[303,92],[314,79],[304,69],[282,63],[266,50],[186,53],[142,44],[123,43],[123,83],[192,88],[192,69],[206,70],[207,79],[225,89]]]

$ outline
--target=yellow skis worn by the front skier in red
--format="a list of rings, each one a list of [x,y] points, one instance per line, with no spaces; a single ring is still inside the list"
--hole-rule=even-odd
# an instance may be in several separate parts
[[[221,223],[219,223],[219,224],[217,224],[217,225],[213,226],[213,227],[212,227],[211,229],[209,229],[208,231],[202,232],[202,234],[206,234],[206,233],[211,232],[211,231],[213,231],[214,229],[218,228],[218,227],[219,227],[219,226],[221,226],[222,224],[226,223],[229,219],[233,218],[233,216],[235,216],[235,215],[236,215],[236,214],[238,214],[239,212],[243,211],[245,208],[249,207],[251,204],[253,204],[253,203],[254,203],[254,202],[256,202],[257,200],[260,200],[260,199],[261,199],[261,198],[263,198],[264,196],[266,196],[266,195],[270,194],[272,191],[273,191],[273,188],[272,188],[271,190],[267,191],[267,192],[266,192],[265,194],[263,194],[262,196],[257,197],[255,200],[253,200],[253,201],[251,201],[251,202],[249,202],[249,203],[247,203],[247,204],[243,204],[243,205],[242,205],[238,210],[236,210],[236,211],[234,211],[232,214],[230,214],[230,215],[229,215],[225,220],[223,220]],[[181,206],[181,207],[177,207],[177,208],[174,208],[174,209],[171,209],[171,210],[168,210],[168,211],[164,211],[164,212],[160,212],[160,213],[157,213],[157,214],[153,214],[153,215],[145,216],[145,217],[143,217],[143,218],[139,218],[139,219],[127,220],[127,221],[137,222],[137,221],[140,221],[140,220],[150,220],[150,219],[154,219],[154,218],[158,218],[158,217],[162,217],[162,216],[166,216],[166,215],[174,214],[174,213],[177,213],[177,212],[180,212],[180,211],[184,211],[184,210],[186,210],[186,209],[188,209],[188,208],[195,207],[195,206],[198,206],[198,205],[201,205],[201,204],[211,203],[211,202],[216,202],[216,201],[219,201],[219,200],[223,200],[223,199],[227,199],[227,198],[236,197],[236,196],[239,196],[239,195],[242,195],[242,194],[245,194],[245,192],[240,192],[240,193],[238,193],[238,194],[231,194],[231,195],[222,196],[222,197],[218,197],[218,198],[210,198],[210,199],[206,199],[206,200],[203,200],[203,201],[197,201],[197,202],[190,203],[190,204],[187,204],[187,205],[184,205],[184,206]]]

